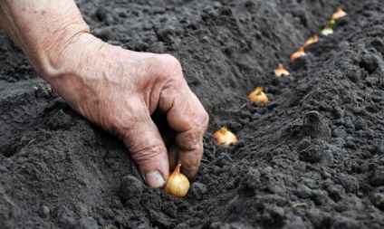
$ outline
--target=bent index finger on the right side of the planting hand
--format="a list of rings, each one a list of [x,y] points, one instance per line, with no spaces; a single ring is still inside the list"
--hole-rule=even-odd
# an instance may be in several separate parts
[[[177,132],[178,160],[182,172],[193,179],[203,156],[203,136],[209,117],[197,96],[189,90],[187,82],[161,92],[158,109],[167,114],[168,125]]]

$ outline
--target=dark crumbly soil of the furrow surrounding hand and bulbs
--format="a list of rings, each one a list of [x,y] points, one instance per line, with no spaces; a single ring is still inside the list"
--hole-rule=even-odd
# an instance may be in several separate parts
[[[182,62],[210,114],[198,176],[182,199],[142,185],[1,33],[0,228],[384,227],[382,1],[77,2],[102,40]],[[290,62],[340,5],[335,33]],[[246,99],[256,86],[269,103]],[[216,144],[223,126],[235,146]]]

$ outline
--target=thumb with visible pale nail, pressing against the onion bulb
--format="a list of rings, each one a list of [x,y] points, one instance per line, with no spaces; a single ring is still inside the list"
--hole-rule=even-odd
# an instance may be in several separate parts
[[[150,116],[132,121],[123,140],[148,186],[163,187],[169,175],[168,153]]]

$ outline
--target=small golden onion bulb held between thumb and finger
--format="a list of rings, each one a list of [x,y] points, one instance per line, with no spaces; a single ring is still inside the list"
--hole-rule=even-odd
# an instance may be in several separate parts
[[[169,195],[182,198],[187,195],[190,184],[189,180],[184,174],[180,173],[181,161],[178,161],[178,166],[169,175],[166,186],[163,190]]]

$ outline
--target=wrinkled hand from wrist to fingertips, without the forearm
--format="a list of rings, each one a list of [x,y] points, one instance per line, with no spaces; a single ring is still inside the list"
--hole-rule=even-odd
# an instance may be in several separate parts
[[[176,58],[123,50],[83,33],[54,65],[60,73],[53,89],[74,110],[124,141],[149,186],[162,187],[169,164],[175,167],[178,160],[182,172],[195,177],[208,115]],[[155,110],[176,133],[168,148],[151,119]]]

